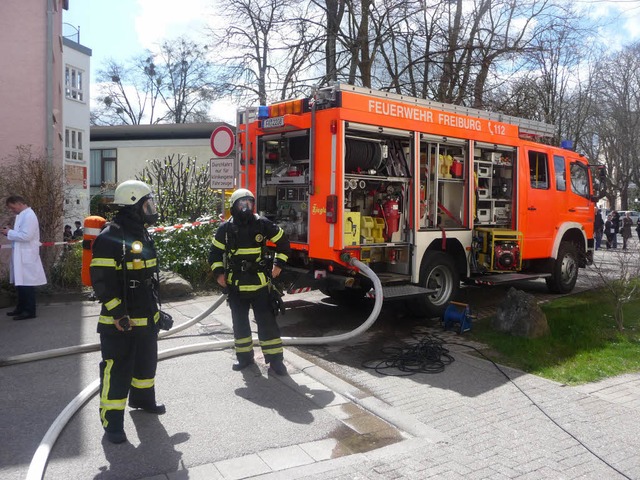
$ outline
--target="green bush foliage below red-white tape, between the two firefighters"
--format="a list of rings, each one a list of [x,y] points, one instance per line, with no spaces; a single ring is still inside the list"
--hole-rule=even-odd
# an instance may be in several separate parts
[[[175,272],[196,290],[212,290],[216,282],[211,275],[209,250],[219,222],[203,224],[153,235],[161,270]]]

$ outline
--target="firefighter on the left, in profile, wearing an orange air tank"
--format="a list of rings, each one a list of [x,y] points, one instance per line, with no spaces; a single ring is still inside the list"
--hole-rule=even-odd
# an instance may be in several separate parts
[[[145,225],[158,219],[149,186],[127,180],[116,188],[118,212],[93,243],[91,282],[102,303],[98,319],[100,348],[100,420],[112,443],[127,440],[124,410],[163,414],[156,403],[158,363],[156,250]]]

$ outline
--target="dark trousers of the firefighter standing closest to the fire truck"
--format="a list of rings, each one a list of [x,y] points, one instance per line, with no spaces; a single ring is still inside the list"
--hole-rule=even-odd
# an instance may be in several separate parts
[[[251,307],[253,307],[253,314],[258,325],[258,339],[265,362],[282,360],[280,328],[271,308],[269,288],[264,287],[254,293],[229,293],[228,300],[238,360],[242,362],[253,358],[253,341],[249,324],[249,308]]]

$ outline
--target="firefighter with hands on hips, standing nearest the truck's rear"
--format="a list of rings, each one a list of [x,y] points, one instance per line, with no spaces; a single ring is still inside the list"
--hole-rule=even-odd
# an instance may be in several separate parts
[[[236,190],[230,203],[231,218],[216,231],[209,263],[216,281],[228,293],[237,358],[232,369],[240,371],[254,363],[249,324],[249,308],[253,307],[265,363],[275,374],[287,375],[276,322],[280,297],[271,280],[280,275],[287,262],[289,240],[279,226],[254,213],[251,191]],[[276,246],[272,262],[267,258],[267,240]]]

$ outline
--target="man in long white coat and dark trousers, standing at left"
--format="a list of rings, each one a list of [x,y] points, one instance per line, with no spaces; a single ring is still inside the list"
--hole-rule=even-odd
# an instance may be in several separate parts
[[[16,214],[13,228],[3,227],[2,234],[11,241],[9,280],[18,291],[18,305],[7,315],[14,320],[27,320],[36,317],[35,287],[47,283],[40,259],[40,225],[35,212],[23,197],[11,195],[6,205]]]

